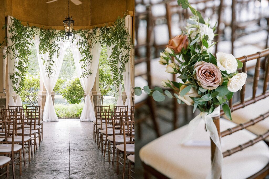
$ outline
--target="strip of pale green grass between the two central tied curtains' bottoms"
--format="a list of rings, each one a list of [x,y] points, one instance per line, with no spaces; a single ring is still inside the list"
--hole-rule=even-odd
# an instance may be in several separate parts
[[[55,112],[57,116],[61,118],[79,118],[82,113],[83,105],[82,103],[69,105],[56,103]]]

